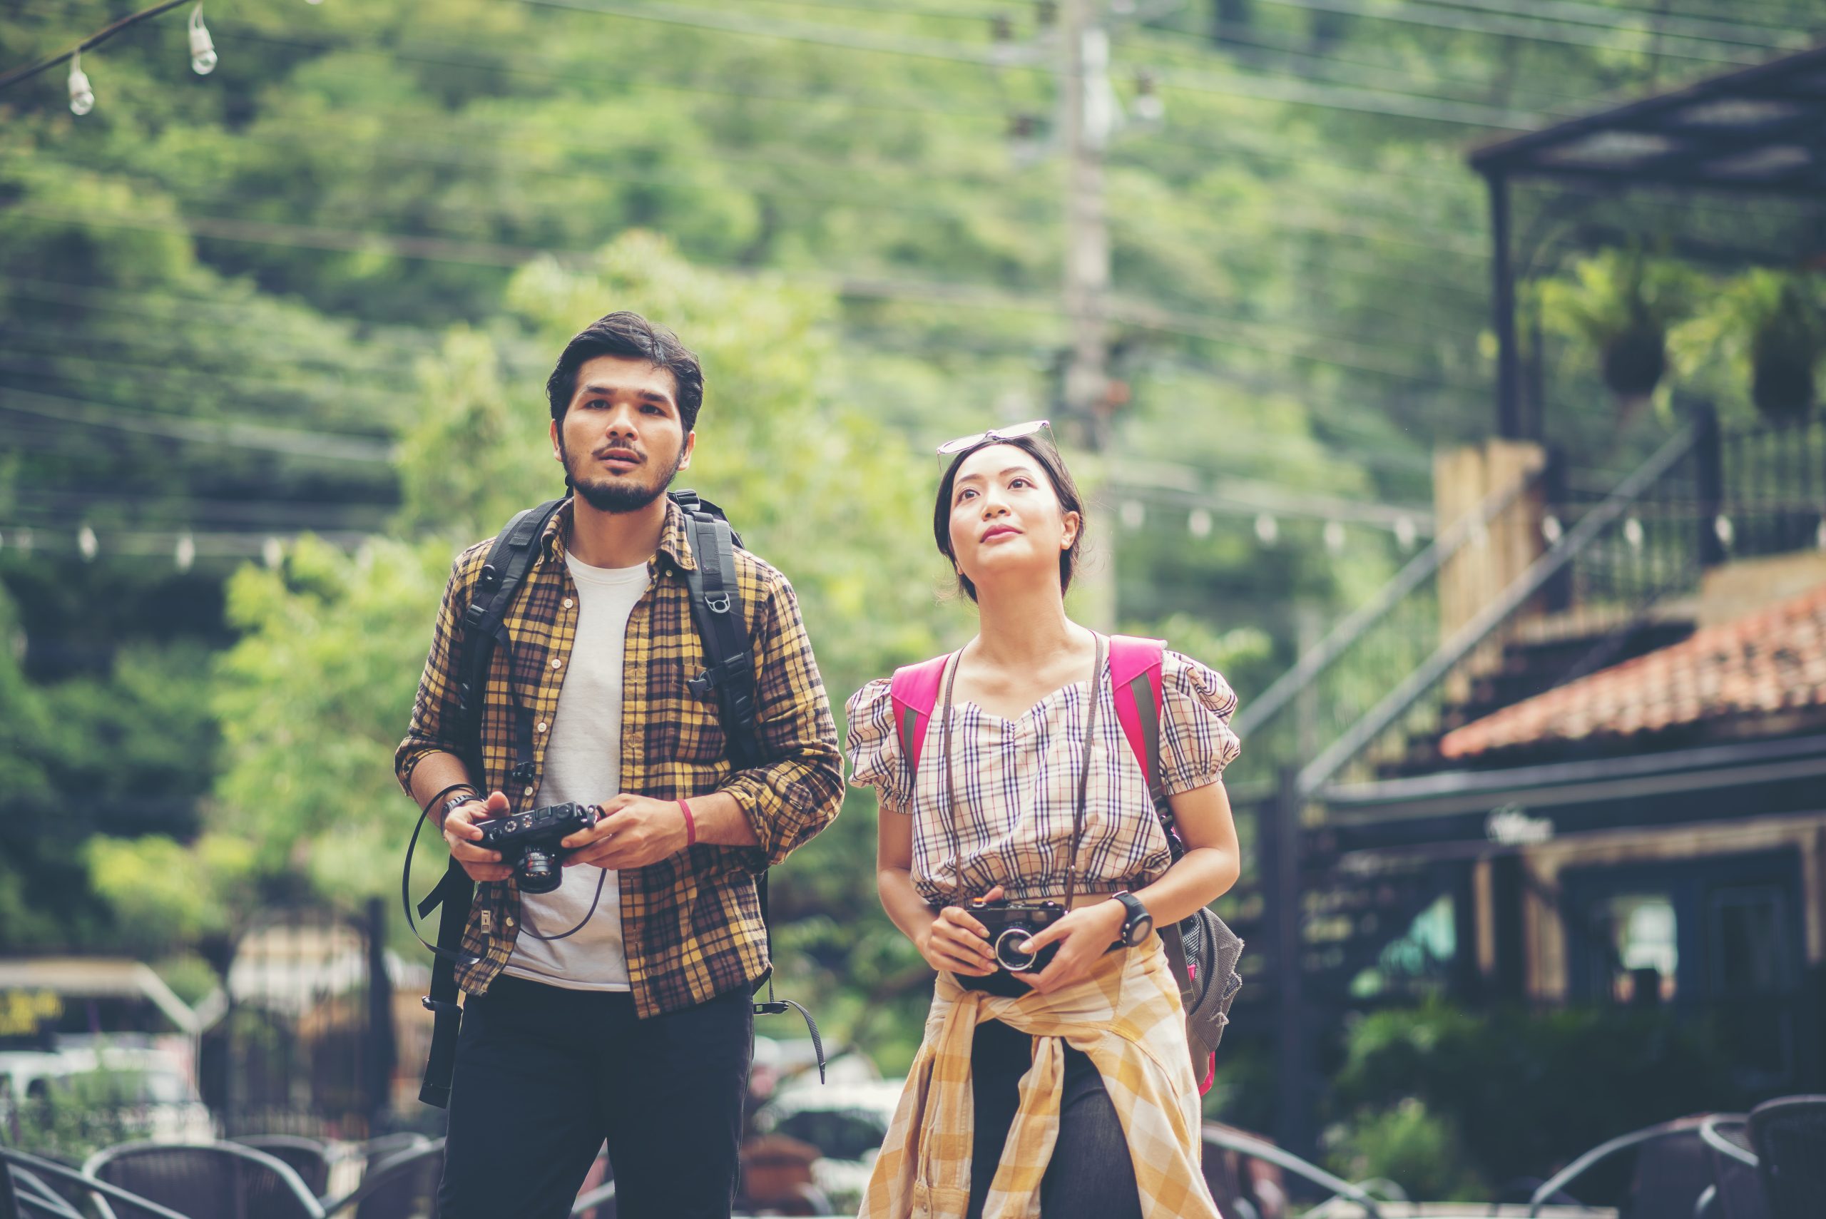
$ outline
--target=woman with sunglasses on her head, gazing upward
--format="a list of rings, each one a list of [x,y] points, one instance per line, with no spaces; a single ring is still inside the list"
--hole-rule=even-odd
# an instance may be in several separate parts
[[[1174,861],[1118,723],[1108,641],[1065,613],[1085,509],[1044,423],[939,453],[957,456],[933,537],[977,602],[977,637],[928,670],[942,664],[944,693],[913,737],[924,748],[909,748],[889,681],[849,701],[853,781],[880,799],[882,905],[939,971],[862,1215],[1216,1219],[1185,1013],[1143,914],[1165,927],[1236,883],[1220,783],[1240,748],[1236,697],[1165,653]],[[1063,916],[999,936],[1008,969],[986,927],[999,912],[970,898],[1057,901]],[[1039,967],[1021,971],[1024,953]]]

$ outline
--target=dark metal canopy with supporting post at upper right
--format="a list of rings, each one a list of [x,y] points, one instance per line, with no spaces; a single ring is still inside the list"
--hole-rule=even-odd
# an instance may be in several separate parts
[[[1510,182],[1826,197],[1826,46],[1470,153],[1490,188],[1497,434],[1523,440]],[[1536,422],[1537,423],[1537,422]]]

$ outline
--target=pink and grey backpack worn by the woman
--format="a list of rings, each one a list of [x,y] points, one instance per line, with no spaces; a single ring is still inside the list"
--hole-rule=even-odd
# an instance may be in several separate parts
[[[1123,737],[1141,765],[1154,810],[1167,832],[1172,858],[1185,854],[1185,845],[1172,825],[1172,808],[1160,781],[1160,717],[1161,717],[1161,657],[1165,641],[1110,635],[1110,682],[1116,695],[1116,721]],[[926,726],[939,704],[939,684],[950,655],[939,655],[918,664],[895,670],[889,682],[893,697],[895,732],[900,752],[909,763],[909,774],[918,772],[920,750],[926,745]],[[1200,909],[1176,925],[1160,927],[1167,960],[1172,964],[1185,1004],[1185,1033],[1192,1051],[1192,1073],[1202,1080],[1200,1095],[1211,1091],[1216,1077],[1216,1049],[1229,1024],[1231,1004],[1242,989],[1236,960],[1244,942],[1223,925],[1211,909]],[[1212,985],[1216,984],[1216,985]]]

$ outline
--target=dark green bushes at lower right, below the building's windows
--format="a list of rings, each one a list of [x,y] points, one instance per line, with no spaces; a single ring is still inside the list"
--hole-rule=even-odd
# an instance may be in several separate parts
[[[1567,1104],[1567,1080],[1578,1080],[1578,1104]],[[1422,1108],[1402,1115],[1408,1100]],[[1344,1128],[1338,1162],[1368,1157],[1413,1192],[1419,1183],[1390,1170],[1408,1157],[1413,1172],[1450,1181],[1464,1164],[1472,1175],[1459,1186],[1501,1188],[1620,1133],[1742,1100],[1727,1047],[1704,1020],[1671,1009],[1485,1013],[1435,1000],[1357,1018],[1331,1111]],[[1379,1122],[1391,1124],[1386,1141],[1368,1133]],[[1446,1159],[1428,1168],[1428,1148]]]

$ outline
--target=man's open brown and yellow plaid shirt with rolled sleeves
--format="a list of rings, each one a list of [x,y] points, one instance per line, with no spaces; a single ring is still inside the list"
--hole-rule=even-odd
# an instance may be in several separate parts
[[[502,790],[513,812],[531,807],[544,774],[544,746],[577,637],[577,589],[564,564],[572,505],[566,502],[540,538],[526,582],[508,610],[511,648],[495,648],[482,708],[484,790]],[[456,648],[462,613],[493,540],[456,557],[438,608],[431,655],[418,682],[413,723],[394,754],[394,770],[411,794],[413,768],[433,752],[469,755],[456,739]],[[641,1018],[690,1007],[736,987],[756,985],[767,967],[767,932],[754,880],[831,823],[842,803],[836,724],[818,677],[798,600],[785,577],[747,551],[736,551],[736,582],[749,615],[756,704],[765,766],[734,772],[714,697],[699,699],[685,682],[707,666],[690,615],[681,569],[694,566],[685,516],[666,504],[650,584],[628,617],[623,668],[621,788],[654,799],[690,799],[729,792],[741,805],[760,847],[698,843],[643,869],[621,872],[621,931],[628,980]],[[533,779],[508,787],[513,768],[513,692],[535,719]],[[615,796],[603,792],[601,799]],[[515,881],[477,885],[464,931],[464,953],[477,964],[458,969],[464,991],[482,995],[508,964],[520,927]]]

